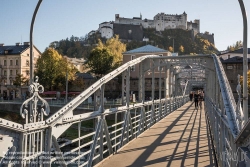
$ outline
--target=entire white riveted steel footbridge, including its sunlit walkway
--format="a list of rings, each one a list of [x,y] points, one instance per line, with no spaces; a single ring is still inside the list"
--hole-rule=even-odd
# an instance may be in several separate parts
[[[136,103],[130,98],[134,66]],[[120,74],[123,105],[105,108],[105,84]],[[151,80],[150,101],[145,100],[146,79]],[[197,88],[205,91],[205,101],[195,109],[189,92]],[[237,90],[241,95],[240,86]],[[216,55],[139,57],[53,115],[39,96],[38,78],[30,92],[20,108],[24,124],[0,118],[2,166],[250,166],[250,124]],[[74,114],[89,97],[94,97],[94,111]]]

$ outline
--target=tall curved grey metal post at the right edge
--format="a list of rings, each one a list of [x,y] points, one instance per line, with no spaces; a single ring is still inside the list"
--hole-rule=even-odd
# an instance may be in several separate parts
[[[248,58],[247,58],[247,14],[243,0],[238,0],[243,18],[243,113],[245,124],[248,121],[248,90],[247,90],[247,71],[248,71]]]

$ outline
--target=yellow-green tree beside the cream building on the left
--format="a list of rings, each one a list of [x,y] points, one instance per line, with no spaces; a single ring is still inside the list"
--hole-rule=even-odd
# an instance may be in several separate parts
[[[76,68],[55,49],[48,48],[37,60],[35,75],[47,90],[64,89],[66,73],[68,80],[74,80]]]

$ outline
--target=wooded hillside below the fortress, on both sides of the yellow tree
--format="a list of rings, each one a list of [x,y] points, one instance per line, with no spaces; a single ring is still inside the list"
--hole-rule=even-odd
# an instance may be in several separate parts
[[[144,29],[143,36],[148,38],[148,42],[130,41],[126,43],[127,50],[135,49],[146,44],[158,46],[159,48],[178,52],[183,54],[211,54],[218,53],[215,46],[207,39],[200,36],[193,36],[191,31],[182,29],[170,29],[162,32],[156,32],[155,29]],[[55,48],[60,54],[68,57],[88,58],[90,51],[95,44],[101,39],[99,33],[90,37],[74,37],[62,39],[60,41],[51,42],[49,47]],[[101,39],[105,41],[105,39]]]

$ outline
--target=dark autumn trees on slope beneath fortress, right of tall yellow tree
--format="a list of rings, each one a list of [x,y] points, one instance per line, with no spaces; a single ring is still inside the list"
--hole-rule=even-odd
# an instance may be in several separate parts
[[[169,50],[170,52],[179,51],[179,55],[183,54],[211,54],[218,53],[218,50],[214,44],[210,43],[207,39],[196,35],[192,35],[190,30],[182,29],[167,29],[161,33],[156,32],[153,28],[143,29],[144,36],[149,38],[149,42],[129,42],[126,43],[127,50],[135,49],[146,44],[158,46],[159,48]],[[174,38],[174,48],[173,39]],[[180,47],[183,47],[183,52],[180,51]],[[173,49],[173,50],[172,50]]]

